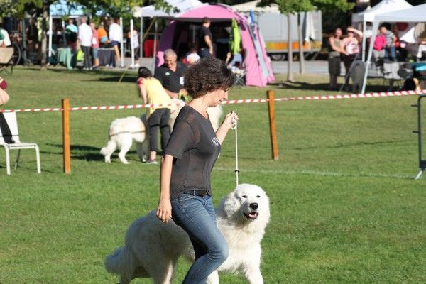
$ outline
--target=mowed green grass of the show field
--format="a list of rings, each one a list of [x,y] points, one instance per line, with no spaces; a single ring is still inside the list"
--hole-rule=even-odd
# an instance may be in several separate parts
[[[16,69],[4,75],[7,108],[138,104],[135,74]],[[280,77],[283,78],[283,77]],[[279,79],[280,79],[279,78]],[[231,98],[329,94],[327,77],[296,77],[293,85],[239,87]],[[376,82],[381,83],[381,82]],[[376,86],[374,89],[385,89]],[[239,114],[240,182],[260,185],[271,199],[263,239],[265,283],[425,283],[426,190],[417,172],[416,97],[275,103],[280,160],[271,160],[264,103],[224,106]],[[112,120],[143,110],[73,111],[72,174],[62,173],[59,112],[18,114],[23,151],[6,175],[0,152],[0,283],[116,283],[104,258],[124,244],[127,226],[158,202],[158,165],[145,165],[133,146],[130,165],[104,163]],[[14,154],[12,155],[12,157]],[[212,173],[214,203],[233,190],[234,133]],[[178,263],[174,283],[189,264]],[[221,283],[245,283],[221,274]],[[133,283],[151,283],[134,280]]]

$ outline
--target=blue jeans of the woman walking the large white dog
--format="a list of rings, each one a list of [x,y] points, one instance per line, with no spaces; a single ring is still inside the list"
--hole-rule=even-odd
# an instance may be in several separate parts
[[[182,284],[204,284],[228,258],[228,244],[217,228],[212,197],[184,193],[171,203],[173,221],[190,236],[195,251],[195,262]]]

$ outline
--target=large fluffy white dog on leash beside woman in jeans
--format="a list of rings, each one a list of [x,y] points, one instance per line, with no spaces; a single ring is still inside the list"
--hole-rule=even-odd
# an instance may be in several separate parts
[[[249,283],[262,284],[261,241],[270,216],[266,193],[257,185],[238,185],[222,199],[216,214],[217,226],[229,246],[229,256],[218,271],[239,271]],[[189,237],[172,220],[163,224],[151,211],[129,226],[124,246],[107,256],[105,267],[121,276],[120,284],[140,277],[169,284],[180,256],[194,261]],[[207,283],[219,283],[217,271],[209,275]]]

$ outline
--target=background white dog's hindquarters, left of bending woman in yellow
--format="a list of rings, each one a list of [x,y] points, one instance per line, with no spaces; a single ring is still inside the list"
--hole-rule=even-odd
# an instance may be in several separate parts
[[[101,149],[105,156],[105,163],[111,163],[111,154],[116,148],[120,149],[119,159],[121,163],[128,164],[126,153],[130,150],[131,144],[136,141],[136,152],[138,157],[146,160],[149,154],[149,135],[145,124],[136,116],[129,116],[124,119],[115,119],[109,126],[109,141],[107,146]]]

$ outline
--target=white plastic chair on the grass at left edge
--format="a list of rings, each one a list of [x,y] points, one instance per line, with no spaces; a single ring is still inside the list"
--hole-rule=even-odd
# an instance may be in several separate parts
[[[35,157],[37,158],[37,173],[41,173],[40,166],[40,151],[38,150],[38,145],[35,143],[26,143],[19,141],[18,133],[18,121],[16,121],[16,112],[5,112],[4,118],[6,119],[9,129],[11,129],[11,134],[13,141],[15,143],[6,143],[4,141],[4,134],[1,133],[0,129],[0,146],[3,146],[6,151],[6,172],[8,175],[11,174],[11,159],[10,159],[10,150],[18,150],[18,155],[16,155],[15,170],[18,168],[19,156],[21,155],[21,149],[35,149]]]

